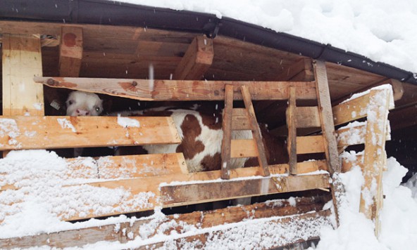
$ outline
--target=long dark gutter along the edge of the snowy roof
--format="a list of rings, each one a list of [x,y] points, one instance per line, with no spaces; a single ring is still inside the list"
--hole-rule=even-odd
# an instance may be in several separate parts
[[[174,11],[104,0],[2,0],[0,20],[127,25],[204,33],[211,37],[221,34],[417,84],[416,74],[383,62],[374,62],[363,55],[232,18],[219,19],[216,15],[206,13]]]

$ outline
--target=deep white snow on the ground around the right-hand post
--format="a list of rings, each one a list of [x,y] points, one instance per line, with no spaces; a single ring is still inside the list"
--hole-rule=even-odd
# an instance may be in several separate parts
[[[373,223],[358,212],[361,185],[364,181],[361,169],[355,166],[351,171],[342,173],[347,202],[340,211],[340,228],[323,228],[320,242],[315,249],[416,249],[417,197],[412,194],[417,193],[417,176],[409,183],[400,185],[406,172],[407,169],[393,157],[387,160],[387,171],[382,179],[385,199],[380,214],[382,227],[379,239],[373,234]]]

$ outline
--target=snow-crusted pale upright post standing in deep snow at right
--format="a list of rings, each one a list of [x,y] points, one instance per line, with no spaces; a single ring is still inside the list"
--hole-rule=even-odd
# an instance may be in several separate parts
[[[379,213],[382,208],[382,171],[387,165],[385,135],[390,106],[390,89],[372,90],[368,104],[363,177],[359,210],[375,222],[375,235],[380,234]]]

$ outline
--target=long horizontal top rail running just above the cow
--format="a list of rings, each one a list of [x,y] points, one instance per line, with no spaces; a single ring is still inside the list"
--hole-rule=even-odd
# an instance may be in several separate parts
[[[37,83],[51,87],[103,93],[136,100],[224,100],[225,85],[235,86],[234,100],[242,100],[240,86],[248,86],[252,100],[287,100],[288,86],[297,88],[297,99],[316,99],[312,81],[180,81],[144,79],[100,79],[35,77]]]

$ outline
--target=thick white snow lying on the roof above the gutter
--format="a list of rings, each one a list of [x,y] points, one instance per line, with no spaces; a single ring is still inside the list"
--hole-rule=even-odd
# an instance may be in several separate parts
[[[413,0],[118,1],[234,18],[417,72],[417,1]]]

